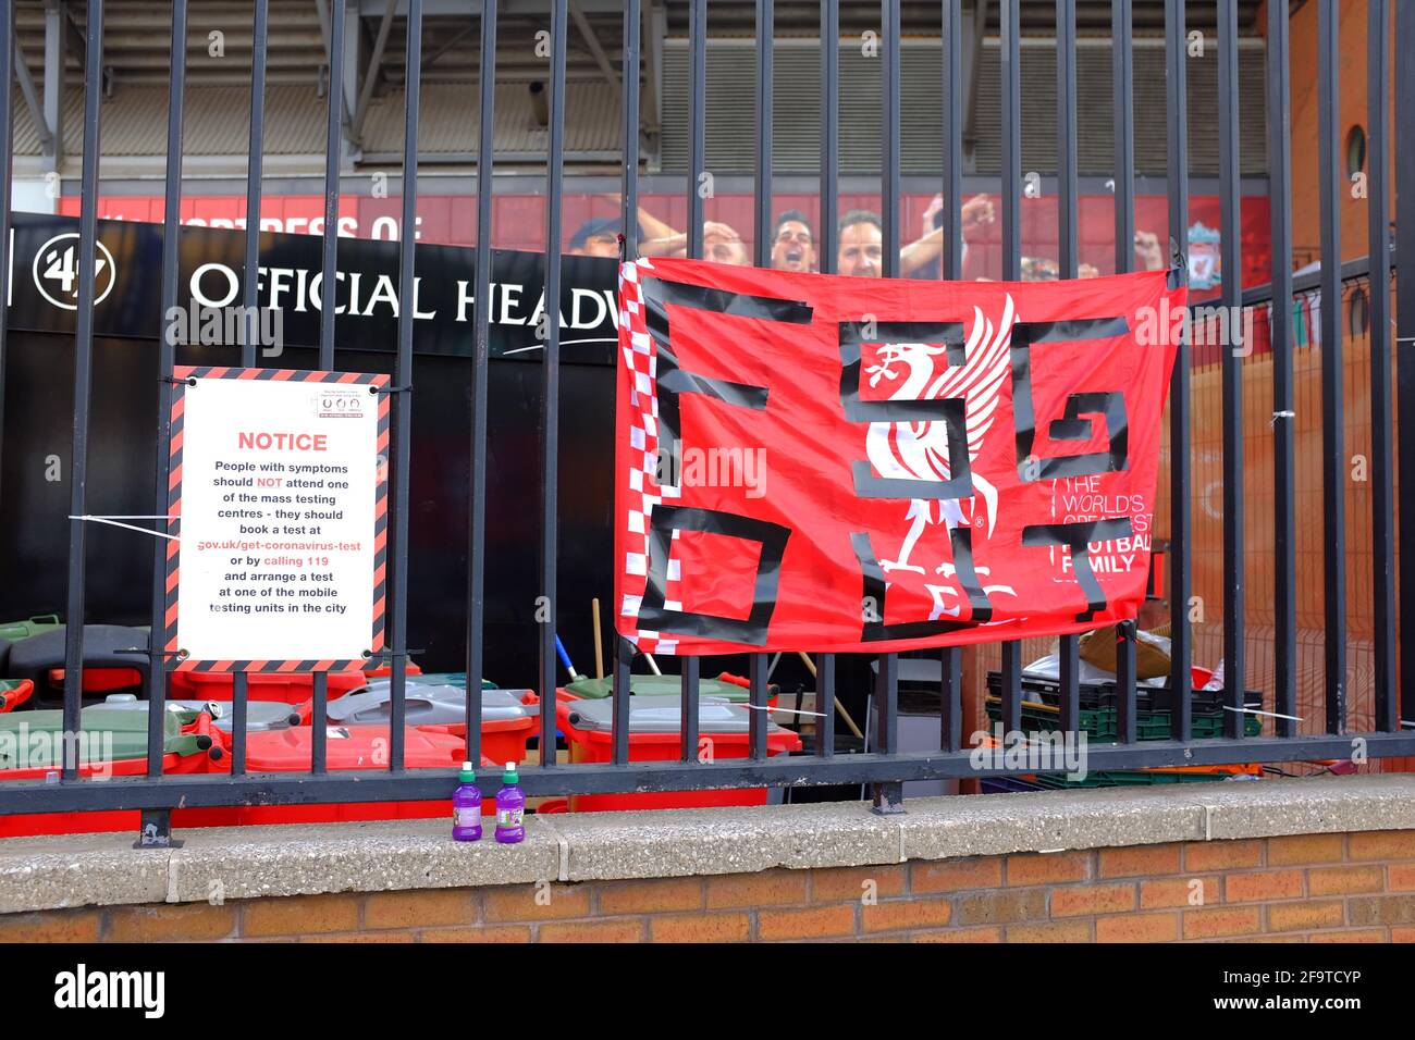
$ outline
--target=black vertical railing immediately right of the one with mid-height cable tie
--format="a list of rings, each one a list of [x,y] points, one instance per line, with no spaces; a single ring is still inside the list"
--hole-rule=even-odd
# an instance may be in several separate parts
[[[1341,175],[1339,146],[1340,10],[1317,0],[1317,156],[1322,195],[1322,491],[1326,606],[1326,732],[1346,730],[1346,487],[1341,400]],[[1224,231],[1228,233],[1227,228]],[[1234,228],[1237,238],[1237,228]],[[1235,250],[1237,252],[1237,250]],[[1227,269],[1227,256],[1224,258]],[[1225,270],[1227,273],[1227,270]],[[1240,402],[1241,405],[1241,402]],[[1224,514],[1230,528],[1242,514]],[[1227,618],[1225,618],[1227,624]]]

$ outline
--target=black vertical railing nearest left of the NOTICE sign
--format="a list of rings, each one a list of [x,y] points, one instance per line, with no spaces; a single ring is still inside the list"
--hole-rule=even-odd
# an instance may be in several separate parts
[[[69,573],[64,630],[64,732],[78,734],[83,703],[85,562],[88,532],[81,519],[88,505],[89,417],[93,398],[93,290],[98,284],[99,110],[103,92],[103,3],[89,0],[83,24],[83,166],[79,197],[78,316],[74,334],[74,439],[69,458]],[[64,780],[78,777],[78,741],[64,741]]]

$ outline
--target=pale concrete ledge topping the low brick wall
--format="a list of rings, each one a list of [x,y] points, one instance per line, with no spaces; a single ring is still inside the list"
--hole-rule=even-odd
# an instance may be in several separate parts
[[[1415,775],[920,798],[899,816],[863,802],[533,816],[526,840],[453,842],[447,822],[198,828],[171,850],[133,835],[0,840],[0,913],[750,873],[1415,829]]]

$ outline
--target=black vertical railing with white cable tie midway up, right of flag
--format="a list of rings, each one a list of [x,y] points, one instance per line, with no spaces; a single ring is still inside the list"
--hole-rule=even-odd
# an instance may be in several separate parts
[[[1288,85],[1286,0],[1268,4],[1268,205],[1272,218],[1272,552],[1274,712],[1276,733],[1298,732],[1296,453],[1292,427],[1292,103]],[[1373,354],[1374,364],[1374,354]],[[1373,368],[1374,379],[1374,368]]]

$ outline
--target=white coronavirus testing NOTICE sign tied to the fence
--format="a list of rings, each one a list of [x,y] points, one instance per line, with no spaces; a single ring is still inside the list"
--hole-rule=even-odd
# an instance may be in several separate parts
[[[383,642],[386,375],[178,368],[167,651],[198,671],[362,666]]]

